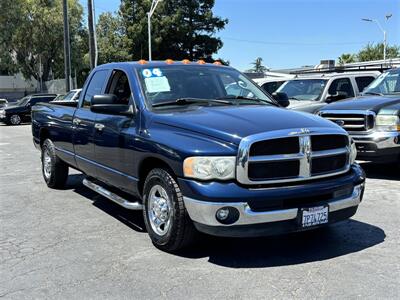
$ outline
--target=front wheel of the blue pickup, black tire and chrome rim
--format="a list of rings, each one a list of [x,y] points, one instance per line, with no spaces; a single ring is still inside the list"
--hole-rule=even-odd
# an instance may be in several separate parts
[[[183,196],[172,175],[153,169],[144,184],[143,217],[153,244],[174,252],[192,243],[196,229],[186,211]]]

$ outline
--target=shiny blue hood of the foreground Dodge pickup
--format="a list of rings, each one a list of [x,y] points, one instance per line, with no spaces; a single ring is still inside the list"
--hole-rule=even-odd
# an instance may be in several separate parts
[[[153,122],[238,144],[244,137],[294,128],[340,128],[318,116],[269,106],[193,107],[154,115]]]

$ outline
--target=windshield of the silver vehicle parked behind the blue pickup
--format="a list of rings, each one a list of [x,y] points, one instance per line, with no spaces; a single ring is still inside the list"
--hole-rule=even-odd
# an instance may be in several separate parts
[[[326,79],[296,79],[282,84],[276,92],[285,93],[290,100],[319,100],[326,86]]]

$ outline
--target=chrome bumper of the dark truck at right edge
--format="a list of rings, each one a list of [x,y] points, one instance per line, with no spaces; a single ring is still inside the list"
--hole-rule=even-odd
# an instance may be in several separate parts
[[[372,143],[379,149],[400,148],[400,133],[374,131],[366,135],[350,134],[354,142],[357,143]]]

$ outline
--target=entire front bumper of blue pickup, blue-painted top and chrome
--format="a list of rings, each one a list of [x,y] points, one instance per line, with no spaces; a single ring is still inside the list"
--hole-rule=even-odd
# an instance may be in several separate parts
[[[182,180],[181,180],[182,181]],[[230,189],[226,193],[231,196],[227,199],[220,192],[219,186],[208,187],[207,198],[202,194],[205,189],[202,185],[191,186],[189,191],[188,183],[183,185],[185,207],[190,218],[194,221],[199,231],[218,235],[218,236],[260,236],[276,233],[285,233],[303,230],[299,219],[301,208],[328,205],[329,223],[337,222],[350,218],[360,204],[364,192],[364,172],[358,165],[354,165],[349,174],[341,175],[334,179],[325,179],[318,182],[309,182],[296,186],[271,187],[265,189],[248,189],[237,187],[234,194],[230,194]],[[181,184],[182,186],[182,184]],[[232,186],[231,186],[232,189]],[[337,195],[330,199],[321,200],[321,195],[350,189],[350,193],[345,196]],[[194,197],[193,192],[199,193]],[[214,193],[214,197],[210,194]],[[328,193],[329,192],[329,193]],[[188,194],[190,194],[188,196]],[[231,192],[232,193],[232,192]],[[304,197],[316,199],[307,203],[300,202]],[[277,209],[279,205],[284,205],[284,200],[290,198],[289,207]],[[207,199],[207,200],[206,200]],[[263,205],[260,205],[263,203]],[[280,203],[280,204],[279,204]],[[263,210],[260,207],[268,207]],[[237,221],[232,224],[222,224],[216,218],[216,213],[224,207],[234,208],[239,212]]]

